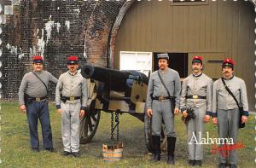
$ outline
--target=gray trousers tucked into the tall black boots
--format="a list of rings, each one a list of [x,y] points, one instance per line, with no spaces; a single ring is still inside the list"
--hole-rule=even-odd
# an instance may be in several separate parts
[[[152,102],[152,135],[161,135],[162,119],[166,127],[166,136],[175,136],[174,132],[174,114],[172,113],[172,103],[170,100]]]

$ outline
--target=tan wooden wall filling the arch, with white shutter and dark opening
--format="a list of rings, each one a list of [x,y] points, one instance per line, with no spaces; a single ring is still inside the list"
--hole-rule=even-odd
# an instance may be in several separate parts
[[[185,78],[191,72],[192,56],[202,55],[204,72],[216,79],[221,76],[221,62],[230,57],[236,64],[235,75],[247,84],[254,111],[255,16],[248,1],[137,1],[119,26],[113,67],[154,71],[156,54],[165,52],[171,57],[170,66]]]

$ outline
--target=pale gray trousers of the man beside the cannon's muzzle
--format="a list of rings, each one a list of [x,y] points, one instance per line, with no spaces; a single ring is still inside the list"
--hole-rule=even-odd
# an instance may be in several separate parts
[[[61,135],[64,151],[79,152],[79,113],[81,103],[63,103],[61,101]]]

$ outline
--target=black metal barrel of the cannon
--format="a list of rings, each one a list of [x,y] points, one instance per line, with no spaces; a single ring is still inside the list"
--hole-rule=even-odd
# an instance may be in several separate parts
[[[109,90],[115,91],[125,91],[131,88],[133,80],[148,84],[148,77],[144,73],[133,70],[119,71],[86,64],[81,68],[81,73],[84,78],[100,81]]]

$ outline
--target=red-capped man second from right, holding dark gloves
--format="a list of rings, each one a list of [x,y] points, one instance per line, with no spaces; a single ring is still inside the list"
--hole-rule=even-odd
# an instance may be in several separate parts
[[[205,123],[209,122],[212,112],[212,78],[207,77],[202,71],[202,57],[194,56],[192,59],[193,73],[184,78],[180,108],[183,117],[188,117],[187,109],[193,109],[195,118],[186,123],[189,148],[189,165],[202,165],[203,146],[200,142],[203,137]],[[195,141],[196,138],[196,141]]]

